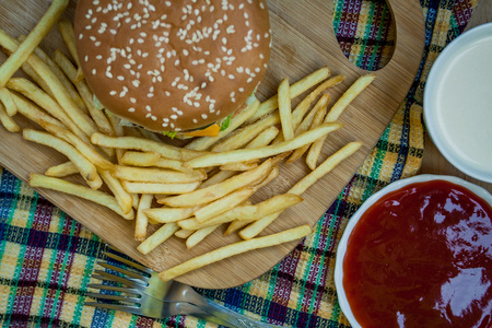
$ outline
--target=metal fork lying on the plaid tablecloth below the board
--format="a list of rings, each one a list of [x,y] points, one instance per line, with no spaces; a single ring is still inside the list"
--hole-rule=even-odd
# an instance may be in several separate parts
[[[95,270],[92,277],[102,280],[103,283],[90,284],[89,288],[103,293],[87,292],[86,296],[105,302],[86,302],[85,305],[152,318],[190,315],[231,328],[280,327],[235,313],[200,295],[189,285],[177,281],[164,282],[153,270],[115,253],[104,254],[116,261],[115,265],[102,261],[98,263],[115,273]],[[126,265],[126,268],[121,263]]]

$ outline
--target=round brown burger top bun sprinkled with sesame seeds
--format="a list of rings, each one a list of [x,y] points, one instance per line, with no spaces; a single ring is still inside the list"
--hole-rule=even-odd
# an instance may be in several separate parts
[[[265,0],[79,0],[74,28],[98,101],[154,131],[227,117],[270,59]]]

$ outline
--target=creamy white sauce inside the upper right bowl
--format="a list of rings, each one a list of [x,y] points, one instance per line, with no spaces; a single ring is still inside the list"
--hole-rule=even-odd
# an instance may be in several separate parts
[[[436,90],[436,124],[469,167],[492,174],[492,36],[461,49]]]

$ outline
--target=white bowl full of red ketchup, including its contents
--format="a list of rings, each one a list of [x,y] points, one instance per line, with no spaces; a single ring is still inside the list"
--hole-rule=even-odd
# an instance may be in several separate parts
[[[352,327],[492,327],[492,195],[452,176],[388,185],[350,219],[335,283]]]

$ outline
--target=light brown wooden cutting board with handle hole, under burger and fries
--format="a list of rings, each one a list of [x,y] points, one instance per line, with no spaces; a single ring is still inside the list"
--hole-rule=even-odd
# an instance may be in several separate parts
[[[46,2],[48,1],[0,1],[1,28],[14,37],[27,34],[47,9]],[[397,42],[393,59],[376,72],[377,79],[373,84],[340,117],[345,126],[330,134],[321,156],[326,159],[350,141],[363,141],[363,148],[308,189],[303,195],[304,201],[301,204],[284,212],[261,235],[304,223],[315,225],[373,149],[407,95],[421,61],[423,16],[417,0],[391,0],[389,3],[396,21]],[[73,16],[74,4],[70,4],[66,16]],[[340,73],[347,77],[343,83],[330,91],[333,99],[337,99],[356,78],[365,73],[354,67],[339,48],[332,28],[332,0],[270,0],[268,5],[273,36],[272,58],[259,91],[260,99],[274,94],[282,78],[296,81],[323,66],[330,67],[333,75]],[[57,47],[65,49],[56,28],[42,47],[48,54]],[[32,126],[22,117],[16,117],[16,121],[22,127]],[[23,180],[32,172],[43,173],[47,167],[65,161],[63,156],[52,150],[25,142],[21,134],[9,133],[3,128],[0,128],[0,163]],[[263,188],[257,199],[286,191],[307,173],[308,168],[302,160],[283,165],[281,176],[271,186]],[[133,222],[122,220],[112,211],[82,199],[48,190],[38,191],[98,236],[156,271],[239,241],[236,235],[223,237],[223,231],[216,231],[191,250],[186,249],[181,239],[172,238],[150,255],[142,256],[136,249],[138,243],[133,241]],[[297,243],[298,241],[225,259],[177,280],[207,289],[238,285],[268,271]]]

